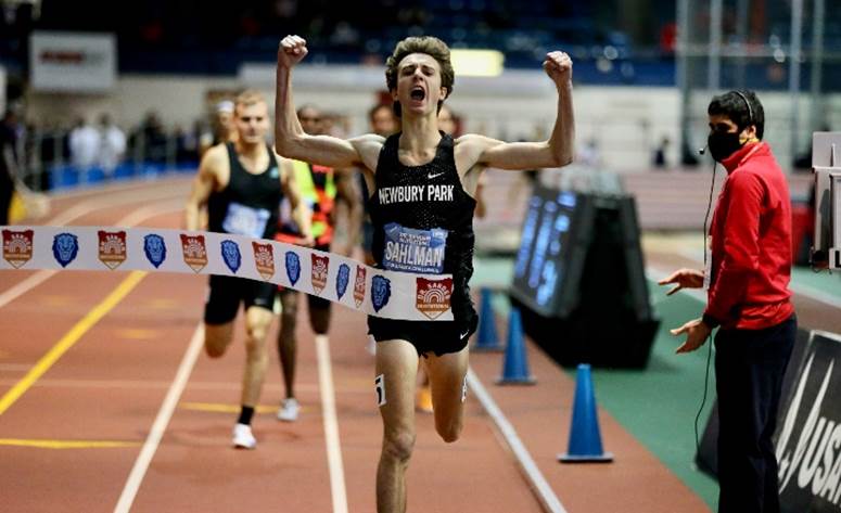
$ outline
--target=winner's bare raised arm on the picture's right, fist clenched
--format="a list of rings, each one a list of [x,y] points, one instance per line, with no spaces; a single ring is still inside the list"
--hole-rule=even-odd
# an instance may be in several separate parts
[[[575,119],[572,106],[572,60],[563,52],[546,55],[544,69],[558,90],[558,112],[549,140],[506,143],[483,136],[467,134],[458,140],[463,163],[498,169],[561,167],[573,158]],[[460,158],[461,161],[461,158]]]

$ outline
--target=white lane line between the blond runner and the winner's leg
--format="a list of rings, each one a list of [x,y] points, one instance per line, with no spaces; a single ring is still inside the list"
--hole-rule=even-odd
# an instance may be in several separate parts
[[[335,413],[333,370],[330,364],[330,345],[326,335],[316,335],[318,356],[318,383],[321,389],[321,410],[324,415],[327,462],[330,467],[330,491],[333,496],[333,513],[347,513],[347,492],[342,463],[342,446],[339,440],[339,420]]]

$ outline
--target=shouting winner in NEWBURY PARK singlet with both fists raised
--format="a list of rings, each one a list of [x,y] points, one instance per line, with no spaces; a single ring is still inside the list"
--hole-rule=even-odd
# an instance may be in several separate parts
[[[276,141],[281,155],[322,166],[364,166],[374,226],[378,266],[399,271],[403,256],[441,255],[423,267],[453,274],[453,321],[402,321],[369,317],[377,339],[377,386],[383,445],[377,471],[379,512],[406,510],[406,470],[415,446],[415,382],[422,355],[432,383],[435,428],[451,443],[462,428],[467,392],[468,338],[476,313],[468,280],[473,272],[475,180],[485,166],[499,169],[560,167],[572,162],[572,61],[547,54],[544,68],[558,89],[555,128],[548,141],[505,143],[467,134],[457,140],[438,130],[437,111],[453,91],[449,49],[439,39],[400,41],[386,63],[386,84],[400,116],[402,132],[385,139],[367,134],[344,140],[309,136],[295,115],[292,68],[307,54],[306,41],[283,38],[278,49]],[[476,164],[481,166],[474,167]],[[407,241],[410,242],[407,244]],[[398,251],[385,251],[385,247]],[[399,247],[399,246],[407,247]],[[417,266],[416,266],[417,267]],[[416,271],[417,272],[417,271]]]

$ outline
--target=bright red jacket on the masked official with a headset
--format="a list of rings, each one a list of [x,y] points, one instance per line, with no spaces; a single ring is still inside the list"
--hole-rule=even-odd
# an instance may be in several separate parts
[[[789,185],[764,142],[746,144],[722,164],[728,177],[710,227],[704,320],[724,329],[769,328],[794,312]]]

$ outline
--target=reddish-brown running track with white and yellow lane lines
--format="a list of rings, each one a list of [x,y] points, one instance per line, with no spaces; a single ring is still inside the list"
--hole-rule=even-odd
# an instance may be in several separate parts
[[[43,223],[178,228],[188,189],[187,179],[169,179],[55,197]],[[265,408],[253,423],[258,446],[238,451],[229,444],[244,360],[243,328],[238,324],[237,338],[221,359],[211,360],[191,345],[205,281],[119,271],[0,272],[0,510],[374,511],[382,426],[373,358],[365,350],[365,318],[334,309],[324,361],[302,312],[301,420],[275,420],[282,387],[272,347]],[[277,321],[270,339],[276,333]],[[471,360],[565,511],[709,511],[604,413],[606,446],[622,458],[611,465],[559,465],[555,456],[569,426],[559,411],[571,410],[574,383],[539,351],[528,351],[541,377],[534,387],[495,387],[498,355]],[[341,464],[332,465],[333,486],[319,380],[326,363],[332,368],[335,392],[330,397],[341,448]],[[548,511],[474,395],[456,444],[438,439],[432,416],[418,414],[417,423],[409,511]],[[155,433],[162,435],[160,443]]]

